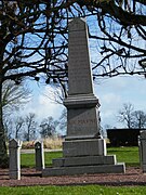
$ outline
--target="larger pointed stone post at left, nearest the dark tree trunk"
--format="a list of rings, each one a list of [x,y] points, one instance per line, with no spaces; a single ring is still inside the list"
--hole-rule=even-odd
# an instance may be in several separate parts
[[[9,142],[9,176],[10,179],[21,180],[21,148],[19,140],[10,140]]]

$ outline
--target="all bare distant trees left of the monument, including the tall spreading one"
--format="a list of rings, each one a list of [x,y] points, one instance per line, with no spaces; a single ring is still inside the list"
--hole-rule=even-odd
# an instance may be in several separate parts
[[[3,125],[8,140],[21,139],[24,141],[48,138],[57,134],[57,128],[63,130],[64,118],[55,120],[49,116],[37,121],[35,113],[17,116],[17,112],[31,100],[31,90],[25,82],[16,86],[13,81],[6,81],[2,90]],[[63,118],[63,119],[62,119]]]

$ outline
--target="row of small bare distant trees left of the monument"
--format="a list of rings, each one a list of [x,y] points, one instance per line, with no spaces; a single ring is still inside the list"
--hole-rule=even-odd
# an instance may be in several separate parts
[[[13,138],[28,142],[38,138],[45,139],[58,135],[57,128],[59,128],[59,126],[62,126],[62,122],[51,116],[38,122],[35,113],[9,118],[4,121],[5,136],[8,140]]]

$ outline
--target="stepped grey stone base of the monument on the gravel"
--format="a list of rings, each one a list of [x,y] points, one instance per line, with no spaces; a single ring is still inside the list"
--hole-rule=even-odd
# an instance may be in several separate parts
[[[115,155],[106,155],[103,139],[65,141],[63,158],[53,159],[53,167],[42,170],[42,177],[84,173],[124,173],[124,164]]]

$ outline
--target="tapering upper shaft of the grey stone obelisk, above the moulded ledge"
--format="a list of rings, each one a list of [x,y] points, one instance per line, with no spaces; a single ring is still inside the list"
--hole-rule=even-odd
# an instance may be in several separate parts
[[[70,22],[68,40],[68,93],[93,93],[88,28],[84,21],[76,18]]]

